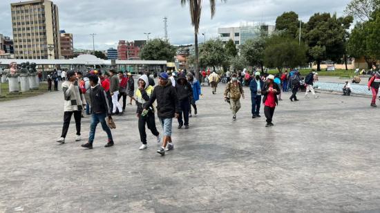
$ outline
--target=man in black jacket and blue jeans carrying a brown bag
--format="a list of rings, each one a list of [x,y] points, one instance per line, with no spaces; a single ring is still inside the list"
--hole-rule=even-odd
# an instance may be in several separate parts
[[[93,149],[93,141],[95,138],[95,130],[97,124],[100,122],[102,124],[103,130],[107,133],[108,142],[104,147],[112,147],[113,146],[113,138],[111,129],[107,126],[106,116],[108,115],[108,119],[111,118],[111,107],[108,102],[108,98],[106,95],[106,91],[104,91],[103,87],[98,84],[99,77],[97,75],[90,75],[89,77],[91,84],[90,91],[90,99],[91,99],[91,124],[90,124],[90,133],[88,136],[88,142],[82,147],[87,149]]]

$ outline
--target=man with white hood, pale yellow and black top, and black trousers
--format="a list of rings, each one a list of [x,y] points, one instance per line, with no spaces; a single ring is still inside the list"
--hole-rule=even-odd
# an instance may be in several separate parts
[[[140,132],[140,140],[142,142],[140,150],[148,148],[148,145],[146,145],[146,131],[145,131],[145,124],[148,127],[148,129],[151,130],[151,133],[153,136],[157,137],[157,142],[161,141],[160,133],[158,133],[156,127],[155,127],[155,118],[154,118],[154,109],[153,107],[149,107],[147,111],[143,114],[142,111],[144,110],[144,107],[146,107],[146,102],[149,101],[149,98],[151,98],[151,95],[153,93],[153,86],[149,85],[149,79],[147,75],[142,75],[139,80],[137,81],[138,89],[136,91],[136,103],[137,103],[137,118],[138,121],[138,128]]]

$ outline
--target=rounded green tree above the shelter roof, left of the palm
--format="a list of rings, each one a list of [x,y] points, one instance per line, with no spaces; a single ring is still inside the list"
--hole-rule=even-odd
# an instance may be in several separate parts
[[[144,60],[166,60],[174,62],[175,47],[164,39],[152,39],[140,51]]]

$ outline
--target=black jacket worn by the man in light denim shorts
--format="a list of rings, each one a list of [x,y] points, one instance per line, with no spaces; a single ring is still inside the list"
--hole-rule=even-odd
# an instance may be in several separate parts
[[[151,98],[146,102],[144,109],[149,109],[157,100],[157,115],[159,118],[173,118],[174,113],[180,113],[180,104],[175,88],[168,80],[164,86],[155,86]]]

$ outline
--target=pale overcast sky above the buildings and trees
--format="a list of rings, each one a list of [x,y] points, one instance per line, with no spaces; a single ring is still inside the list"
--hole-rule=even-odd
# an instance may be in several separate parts
[[[207,39],[217,36],[218,27],[240,26],[246,21],[263,19],[274,24],[276,17],[285,11],[298,13],[307,21],[316,12],[343,10],[350,0],[217,0],[216,15],[211,19],[209,1],[204,0],[200,33]],[[0,33],[11,35],[10,3],[15,0],[0,0]],[[182,7],[180,0],[55,0],[59,10],[59,28],[73,33],[74,47],[92,49],[91,33],[96,33],[95,48],[106,50],[116,47],[120,39],[146,39],[164,37],[163,17],[168,17],[168,35],[172,44],[192,44],[193,28],[189,6]],[[263,15],[263,16],[262,16]],[[12,36],[12,35],[11,35]],[[199,37],[203,41],[202,35]]]

